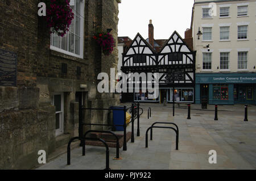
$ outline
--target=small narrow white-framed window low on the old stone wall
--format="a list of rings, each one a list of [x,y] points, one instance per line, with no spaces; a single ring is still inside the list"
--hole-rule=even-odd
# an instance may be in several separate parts
[[[55,93],[51,96],[51,104],[55,106],[55,133],[59,136],[64,133],[64,94]]]

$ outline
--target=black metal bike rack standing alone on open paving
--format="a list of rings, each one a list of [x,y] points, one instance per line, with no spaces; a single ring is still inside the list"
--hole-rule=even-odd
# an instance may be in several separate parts
[[[155,124],[172,124],[172,125],[175,125],[176,129],[173,128],[173,127],[156,127],[154,126]],[[148,131],[150,130],[151,133],[150,133],[150,140],[152,140],[152,128],[163,128],[163,129],[172,129],[175,131],[176,133],[176,150],[179,149],[179,128],[177,127],[177,125],[175,123],[166,123],[166,122],[156,122],[156,123],[153,123],[151,125],[151,127],[149,127],[146,131],[146,148],[148,148]]]

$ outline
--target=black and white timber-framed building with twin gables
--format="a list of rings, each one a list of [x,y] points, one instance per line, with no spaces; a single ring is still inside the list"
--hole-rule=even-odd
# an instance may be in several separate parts
[[[152,26],[151,22],[149,36],[150,26]],[[154,46],[154,44],[158,45],[154,37],[153,45],[150,44],[151,38],[149,37],[147,41],[139,33],[135,36],[130,46],[122,54],[121,70],[125,74],[146,73],[147,75],[147,73],[152,73],[153,78],[154,73],[158,73],[159,96],[152,97],[152,93],[142,91],[145,85],[147,87],[148,83],[152,83],[150,77],[146,77],[146,81],[139,79],[139,82],[127,78],[127,93],[122,92],[122,102],[134,100],[163,103],[166,98],[167,103],[170,103],[173,102],[174,97],[176,103],[194,103],[196,52],[189,48],[176,31],[159,48]],[[139,90],[135,90],[135,88],[129,90],[129,83],[133,83],[133,87],[135,87],[135,83],[139,83]],[[173,87],[175,87],[174,90]]]

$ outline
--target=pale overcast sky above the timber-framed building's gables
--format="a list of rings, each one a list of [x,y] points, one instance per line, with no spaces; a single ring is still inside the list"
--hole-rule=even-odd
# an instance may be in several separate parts
[[[190,28],[194,0],[122,0],[119,4],[118,36],[131,39],[139,32],[148,38],[152,19],[154,39],[169,39],[176,30],[184,38]]]

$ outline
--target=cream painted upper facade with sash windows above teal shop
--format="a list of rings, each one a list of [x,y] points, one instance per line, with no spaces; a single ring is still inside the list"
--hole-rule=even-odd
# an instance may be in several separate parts
[[[191,28],[196,73],[256,72],[256,1],[195,0]]]

